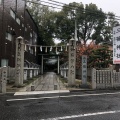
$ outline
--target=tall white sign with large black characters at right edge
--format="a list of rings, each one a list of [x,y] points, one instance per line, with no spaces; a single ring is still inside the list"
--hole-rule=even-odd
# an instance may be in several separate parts
[[[120,26],[113,28],[113,64],[120,64]]]

